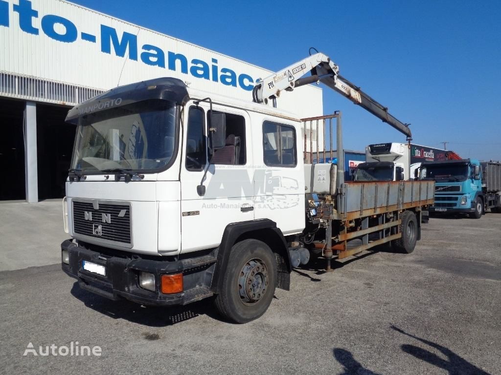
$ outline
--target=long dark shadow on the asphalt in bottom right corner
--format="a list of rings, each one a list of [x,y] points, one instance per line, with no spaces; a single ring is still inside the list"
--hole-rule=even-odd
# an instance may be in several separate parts
[[[466,359],[460,357],[459,355],[454,353],[452,350],[446,348],[445,346],[415,336],[411,333],[407,333],[403,329],[400,329],[394,325],[392,325],[391,328],[396,330],[397,332],[400,332],[418,341],[421,341],[422,343],[438,350],[441,354],[443,354],[447,359],[442,359],[435,353],[432,353],[431,351],[423,349],[419,346],[410,344],[402,344],[400,346],[404,352],[448,371],[449,375],[489,375],[488,372],[485,372],[484,370],[471,364]]]

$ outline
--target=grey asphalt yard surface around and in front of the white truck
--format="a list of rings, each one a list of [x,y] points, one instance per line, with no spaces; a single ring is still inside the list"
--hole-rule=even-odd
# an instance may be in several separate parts
[[[2,271],[0,373],[501,374],[500,229],[501,214],[432,218],[412,254],[295,272],[244,325],[210,301],[112,302],[59,264]],[[71,341],[102,355],[23,356]]]

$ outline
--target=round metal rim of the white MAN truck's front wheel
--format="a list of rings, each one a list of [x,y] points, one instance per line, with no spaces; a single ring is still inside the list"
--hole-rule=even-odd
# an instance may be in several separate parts
[[[245,263],[238,277],[238,293],[244,304],[258,302],[268,289],[268,269],[263,260],[254,258]]]

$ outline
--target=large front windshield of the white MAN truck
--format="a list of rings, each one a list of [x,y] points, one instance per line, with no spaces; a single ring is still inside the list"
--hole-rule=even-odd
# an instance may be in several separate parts
[[[112,169],[160,169],[175,158],[176,106],[145,100],[79,118],[72,168],[85,173]]]

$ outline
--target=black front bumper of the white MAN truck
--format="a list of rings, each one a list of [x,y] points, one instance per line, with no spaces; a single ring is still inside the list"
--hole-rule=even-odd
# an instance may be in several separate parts
[[[81,288],[112,300],[125,298],[145,305],[169,306],[194,302],[213,294],[207,278],[215,264],[215,257],[211,255],[177,261],[130,259],[93,251],[69,239],[61,243],[61,250],[69,253],[69,264],[61,263],[63,271],[76,278]],[[83,269],[84,260],[104,266],[106,275]],[[155,275],[155,291],[139,286],[140,271]],[[183,273],[184,290],[163,294],[159,290],[160,275],[173,273]]]

